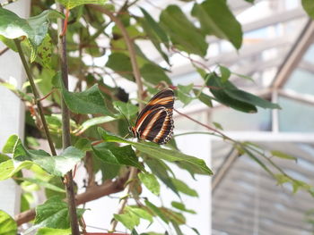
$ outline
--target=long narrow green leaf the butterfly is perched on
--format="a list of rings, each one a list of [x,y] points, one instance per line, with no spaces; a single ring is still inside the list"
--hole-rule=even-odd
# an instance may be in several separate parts
[[[133,141],[126,140],[125,138],[120,138],[118,136],[109,134],[106,130],[98,128],[98,132],[100,137],[103,138],[107,142],[117,142],[117,143],[126,143],[132,145],[140,152],[150,155],[156,159],[163,159],[169,162],[187,162],[188,164],[196,165],[200,168],[200,170],[206,174],[213,174],[213,172],[206,166],[204,160],[198,159],[191,155],[185,155],[175,150],[161,148],[158,145],[154,145],[153,143],[136,143]]]

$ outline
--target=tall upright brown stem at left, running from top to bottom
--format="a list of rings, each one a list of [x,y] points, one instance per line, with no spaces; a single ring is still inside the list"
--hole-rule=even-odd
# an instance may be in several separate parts
[[[57,4],[57,11],[63,13],[64,8],[61,4]],[[68,88],[68,74],[67,74],[67,61],[66,61],[66,31],[63,31],[65,27],[65,21],[58,18],[57,19],[57,31],[58,35],[58,53],[60,57],[60,65],[61,65],[61,77],[64,82],[65,88]],[[61,34],[64,35],[61,36]],[[66,147],[71,146],[71,136],[70,136],[70,113],[65,105],[65,99],[62,98],[61,103],[62,110],[62,147],[65,149]],[[65,189],[66,189],[66,199],[69,207],[69,216],[71,222],[71,230],[73,235],[79,235],[80,230],[78,226],[77,214],[76,214],[76,206],[75,206],[75,194],[74,194],[74,181],[72,176],[72,171],[67,172],[65,176]]]

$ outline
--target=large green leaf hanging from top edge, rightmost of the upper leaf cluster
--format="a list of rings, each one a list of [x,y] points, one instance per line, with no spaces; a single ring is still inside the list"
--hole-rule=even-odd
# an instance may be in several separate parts
[[[225,0],[206,0],[202,4],[194,4],[192,15],[200,21],[201,30],[205,35],[227,39],[235,48],[240,49],[241,25]]]

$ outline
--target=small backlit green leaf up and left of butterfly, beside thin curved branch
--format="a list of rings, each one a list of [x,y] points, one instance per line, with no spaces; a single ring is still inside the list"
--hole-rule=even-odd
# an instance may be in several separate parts
[[[132,64],[130,57],[122,53],[112,53],[109,55],[106,67],[110,68],[112,71],[117,72],[122,77],[127,80],[134,81]]]

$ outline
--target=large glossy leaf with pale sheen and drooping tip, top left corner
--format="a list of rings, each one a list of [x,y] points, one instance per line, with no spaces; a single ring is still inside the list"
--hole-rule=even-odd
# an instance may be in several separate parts
[[[63,17],[55,10],[46,10],[28,20],[20,18],[17,14],[0,8],[0,35],[4,38],[28,38],[31,44],[31,62],[37,55],[38,46],[46,37],[49,19]]]

